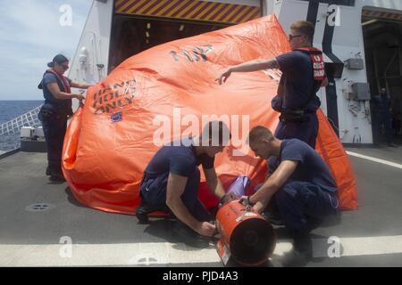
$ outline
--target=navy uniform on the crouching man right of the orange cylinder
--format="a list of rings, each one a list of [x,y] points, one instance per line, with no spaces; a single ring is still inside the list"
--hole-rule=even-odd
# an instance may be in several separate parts
[[[293,232],[303,231],[312,217],[322,220],[337,214],[337,185],[323,159],[306,142],[283,140],[278,158],[268,159],[273,173],[282,161],[297,161],[295,171],[272,197],[283,224]]]

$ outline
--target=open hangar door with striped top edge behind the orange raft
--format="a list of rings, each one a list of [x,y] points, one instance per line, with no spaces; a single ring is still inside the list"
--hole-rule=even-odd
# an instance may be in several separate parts
[[[262,15],[259,4],[222,2],[225,3],[199,0],[116,0],[109,72],[130,56],[155,45],[226,28]]]

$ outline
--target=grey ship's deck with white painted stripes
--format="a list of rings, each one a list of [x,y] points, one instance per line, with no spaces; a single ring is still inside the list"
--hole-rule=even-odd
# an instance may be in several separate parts
[[[347,151],[359,208],[314,230],[314,258],[306,266],[400,266],[402,147]],[[135,216],[80,205],[67,183],[48,182],[45,168],[46,153],[0,159],[1,266],[222,266],[214,244],[180,242],[172,221],[138,224]],[[286,232],[278,233],[272,266],[281,266],[292,248]]]

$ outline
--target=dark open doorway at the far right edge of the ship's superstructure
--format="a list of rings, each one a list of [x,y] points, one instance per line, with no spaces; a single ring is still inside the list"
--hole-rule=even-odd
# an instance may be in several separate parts
[[[385,141],[384,126],[379,126],[379,116],[374,116],[378,105],[373,97],[380,94],[381,88],[386,88],[393,141],[402,143],[402,12],[364,8],[362,28],[367,79],[372,94],[373,141]]]

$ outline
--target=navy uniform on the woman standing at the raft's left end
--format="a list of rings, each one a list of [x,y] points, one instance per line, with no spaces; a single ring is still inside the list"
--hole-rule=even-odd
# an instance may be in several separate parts
[[[71,79],[67,78],[69,84]],[[62,152],[64,134],[67,128],[68,116],[72,114],[71,99],[59,100],[49,91],[49,83],[57,83],[60,91],[67,92],[60,78],[52,72],[46,71],[38,88],[43,89],[45,104],[39,111],[38,118],[42,122],[46,138],[47,148],[47,170],[49,175],[62,175]]]

